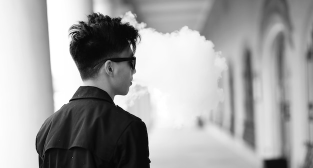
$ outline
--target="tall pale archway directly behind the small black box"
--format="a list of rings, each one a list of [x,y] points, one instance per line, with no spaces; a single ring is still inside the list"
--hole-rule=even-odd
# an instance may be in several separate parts
[[[268,33],[262,60],[263,109],[266,162],[288,167],[290,161],[289,74],[287,67],[288,38],[282,24],[274,25]],[[266,139],[266,138],[265,138]],[[266,167],[266,166],[265,166]]]

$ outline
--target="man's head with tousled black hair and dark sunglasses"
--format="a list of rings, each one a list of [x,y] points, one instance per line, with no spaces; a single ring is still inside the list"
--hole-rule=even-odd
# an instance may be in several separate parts
[[[69,32],[70,54],[81,79],[105,87],[112,97],[127,94],[135,73],[138,30],[122,23],[120,17],[92,13],[86,22],[72,25]]]

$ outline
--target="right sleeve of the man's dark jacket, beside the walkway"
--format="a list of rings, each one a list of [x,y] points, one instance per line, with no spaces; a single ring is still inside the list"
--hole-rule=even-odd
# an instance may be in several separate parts
[[[142,121],[132,121],[121,134],[115,148],[118,168],[150,167],[148,136]]]

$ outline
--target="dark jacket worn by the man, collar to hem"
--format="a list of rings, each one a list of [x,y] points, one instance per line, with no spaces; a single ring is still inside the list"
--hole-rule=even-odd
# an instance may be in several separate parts
[[[36,150],[40,168],[149,167],[150,162],[144,122],[92,86],[80,86],[44,121]]]

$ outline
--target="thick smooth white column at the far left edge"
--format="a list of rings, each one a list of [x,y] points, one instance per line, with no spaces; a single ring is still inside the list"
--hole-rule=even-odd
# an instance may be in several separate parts
[[[45,0],[0,0],[0,164],[38,167],[35,137],[53,112]]]

